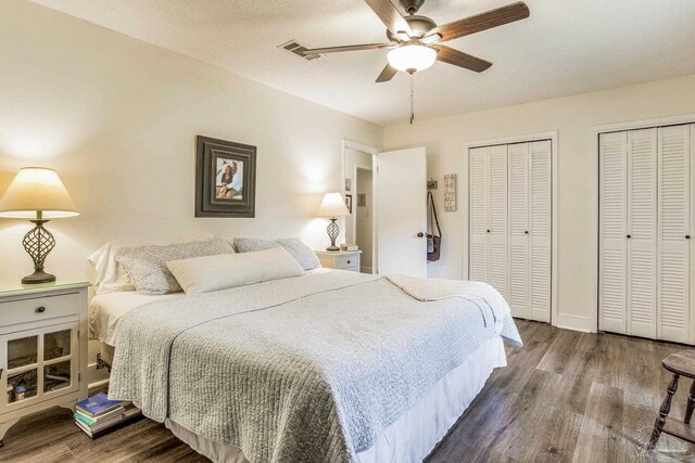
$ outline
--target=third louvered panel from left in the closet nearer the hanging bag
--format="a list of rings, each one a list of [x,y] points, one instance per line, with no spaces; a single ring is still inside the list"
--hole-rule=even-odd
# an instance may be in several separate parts
[[[531,318],[529,297],[529,143],[509,145],[509,307]]]

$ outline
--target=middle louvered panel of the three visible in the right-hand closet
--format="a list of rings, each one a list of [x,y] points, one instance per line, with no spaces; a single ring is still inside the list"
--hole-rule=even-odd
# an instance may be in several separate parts
[[[657,129],[628,133],[628,334],[656,337]]]

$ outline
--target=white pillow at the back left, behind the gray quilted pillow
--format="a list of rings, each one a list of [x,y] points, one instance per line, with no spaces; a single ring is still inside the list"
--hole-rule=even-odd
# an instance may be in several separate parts
[[[94,266],[94,270],[97,271],[97,281],[94,281],[96,292],[97,294],[106,294],[114,293],[116,291],[135,291],[135,285],[128,278],[128,273],[116,260],[124,250],[130,247],[206,241],[212,237],[212,234],[204,234],[195,237],[188,237],[186,240],[168,242],[157,242],[153,240],[121,240],[106,242],[91,256],[89,256],[88,259],[89,262]]]

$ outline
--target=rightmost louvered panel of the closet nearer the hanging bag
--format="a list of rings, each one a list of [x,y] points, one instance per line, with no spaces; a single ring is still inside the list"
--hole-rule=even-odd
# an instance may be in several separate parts
[[[531,319],[551,321],[551,141],[529,144]]]

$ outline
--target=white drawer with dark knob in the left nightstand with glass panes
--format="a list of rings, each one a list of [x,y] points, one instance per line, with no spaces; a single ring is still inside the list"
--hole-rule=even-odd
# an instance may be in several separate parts
[[[0,324],[12,325],[79,314],[79,293],[0,303]]]

